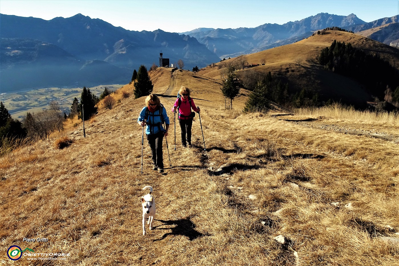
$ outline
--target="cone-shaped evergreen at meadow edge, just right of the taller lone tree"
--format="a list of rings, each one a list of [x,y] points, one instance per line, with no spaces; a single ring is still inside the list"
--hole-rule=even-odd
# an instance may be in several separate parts
[[[244,112],[263,112],[270,111],[270,95],[267,88],[266,80],[258,81],[254,91],[249,94],[247,102],[245,102]]]

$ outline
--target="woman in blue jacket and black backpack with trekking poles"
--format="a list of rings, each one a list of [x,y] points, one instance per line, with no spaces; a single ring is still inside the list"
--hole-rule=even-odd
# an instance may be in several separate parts
[[[146,126],[146,136],[152,152],[152,162],[154,163],[152,169],[163,173],[162,140],[164,136],[168,136],[169,117],[158,96],[150,94],[145,102],[146,106],[142,108],[137,123],[140,126]],[[163,127],[164,123],[166,128]]]

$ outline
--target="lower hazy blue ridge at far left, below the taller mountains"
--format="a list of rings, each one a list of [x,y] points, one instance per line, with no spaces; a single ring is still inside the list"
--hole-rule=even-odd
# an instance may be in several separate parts
[[[80,60],[57,45],[1,38],[1,92],[24,88],[127,83],[129,69],[100,60]],[[107,73],[107,75],[104,75]]]

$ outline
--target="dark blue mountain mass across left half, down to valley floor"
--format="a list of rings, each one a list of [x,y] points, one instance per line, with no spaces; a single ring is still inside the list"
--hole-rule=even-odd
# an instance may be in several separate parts
[[[2,76],[8,75],[8,77],[1,79],[2,91],[54,85],[55,80],[53,78],[50,82],[46,78],[42,78],[41,81],[34,79],[35,75],[32,75],[30,79],[25,79],[25,76],[17,76],[17,73],[29,69],[28,72],[33,71],[37,74],[37,77],[47,77],[46,73],[39,73],[47,69],[45,65],[58,68],[60,72],[62,69],[64,73],[71,73],[66,74],[65,77],[57,75],[59,79],[56,80],[59,82],[56,83],[71,85],[64,83],[69,82],[70,79],[66,76],[71,75],[73,76],[73,85],[75,85],[75,83],[99,84],[113,83],[114,81],[128,83],[133,69],[138,69],[142,64],[146,65],[148,69],[152,63],[158,65],[161,50],[164,53],[164,58],[170,59],[170,63],[176,64],[178,59],[182,59],[188,68],[196,65],[205,66],[208,62],[219,61],[219,58],[209,51],[205,45],[199,43],[197,39],[178,33],[168,33],[162,30],[154,32],[129,31],[82,14],[77,14],[71,18],[54,18],[48,21],[33,17],[24,18],[4,14],[0,14],[0,16],[2,42],[6,45],[6,43],[10,43],[7,39],[13,39],[14,44],[12,46],[18,48],[12,50],[24,50],[21,47],[24,47],[29,39],[48,43],[50,46],[47,48],[59,47],[59,49],[53,50],[44,49],[44,54],[36,51],[34,58],[30,57],[30,60],[28,60],[28,57],[26,57],[25,61],[21,61],[16,56],[7,56],[1,65]],[[16,43],[18,41],[20,43]],[[51,54],[52,51],[53,54]],[[81,62],[71,66],[70,60],[59,51],[65,51],[64,53],[74,57],[75,61],[80,59]],[[36,69],[32,69],[32,63],[36,61],[43,62],[44,69],[38,68],[38,66],[36,66]],[[57,65],[54,65],[55,61],[58,62]],[[97,62],[95,63],[96,67],[82,68],[85,61],[90,61],[91,64]],[[104,63],[99,64],[98,61]],[[99,73],[91,73],[89,69],[99,71]],[[79,73],[76,71],[79,71]],[[86,72],[87,75],[83,75],[82,71]],[[98,77],[102,80],[101,82],[97,80]],[[109,80],[104,81],[106,78],[109,78]],[[13,79],[20,80],[13,83]]]

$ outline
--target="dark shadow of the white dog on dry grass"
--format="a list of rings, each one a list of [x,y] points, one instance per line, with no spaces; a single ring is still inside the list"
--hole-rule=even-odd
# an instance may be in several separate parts
[[[153,241],[162,240],[170,234],[172,234],[172,235],[181,234],[183,236],[187,236],[190,239],[190,241],[192,241],[200,236],[203,236],[202,233],[199,233],[197,230],[194,229],[196,227],[196,225],[190,220],[190,217],[186,217],[185,219],[170,220],[170,221],[157,220],[157,219],[154,219],[154,220],[162,222],[163,225],[176,225],[176,226],[160,228],[160,226],[162,226],[162,225],[158,225],[158,226],[154,227],[154,229],[156,229],[156,230],[168,229],[168,230],[172,230],[172,232],[166,233],[161,238],[154,239]]]

